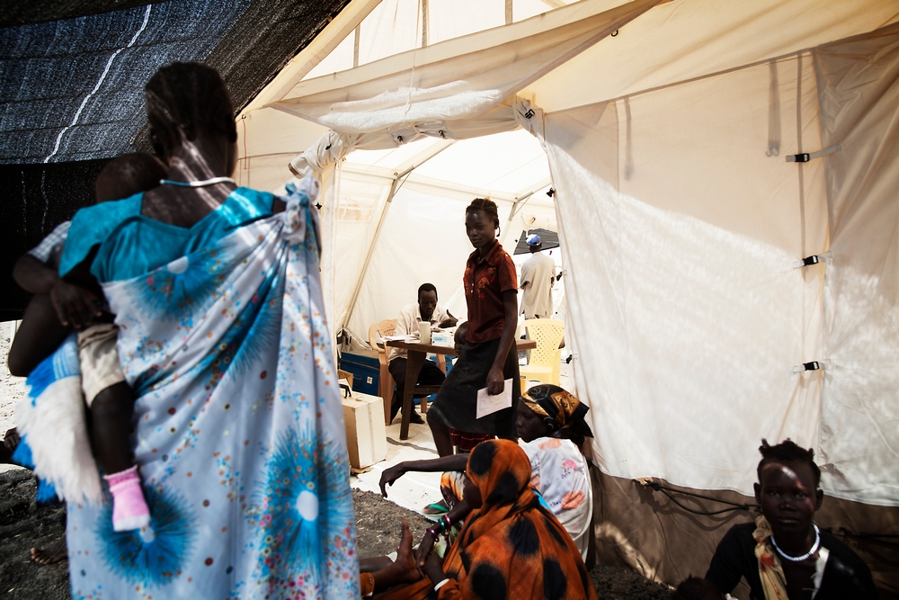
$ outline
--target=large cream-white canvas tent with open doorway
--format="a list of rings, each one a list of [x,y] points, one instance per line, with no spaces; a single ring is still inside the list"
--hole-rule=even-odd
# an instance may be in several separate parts
[[[762,437],[814,448],[819,523],[899,533],[899,4],[563,4],[352,0],[240,115],[241,183],[323,176],[363,336],[425,280],[464,306],[475,195],[506,246],[557,226],[597,533],[647,575],[701,574],[740,517],[639,481],[744,500]]]

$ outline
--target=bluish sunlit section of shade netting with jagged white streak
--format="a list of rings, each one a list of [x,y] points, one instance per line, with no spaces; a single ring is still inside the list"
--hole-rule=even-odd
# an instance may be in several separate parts
[[[144,122],[144,85],[156,68],[206,58],[247,5],[147,4],[4,29],[0,162],[128,152]]]

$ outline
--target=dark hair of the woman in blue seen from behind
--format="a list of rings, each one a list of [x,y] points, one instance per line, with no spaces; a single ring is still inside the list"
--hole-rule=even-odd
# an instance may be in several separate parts
[[[237,141],[234,105],[218,71],[193,62],[160,67],[145,88],[153,146],[164,156],[199,134]]]

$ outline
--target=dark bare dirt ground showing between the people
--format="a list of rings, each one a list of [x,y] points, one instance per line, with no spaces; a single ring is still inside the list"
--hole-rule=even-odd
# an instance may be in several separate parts
[[[63,506],[38,508],[34,504],[34,478],[27,470],[0,473],[0,598],[11,600],[67,600],[67,562],[41,567],[30,560],[34,546],[47,546],[64,533]],[[396,506],[377,494],[354,489],[361,558],[396,549],[400,521],[405,519],[414,538],[421,539],[429,521]],[[597,566],[591,571],[597,596],[614,600],[650,600],[669,597],[667,587],[633,571]]]

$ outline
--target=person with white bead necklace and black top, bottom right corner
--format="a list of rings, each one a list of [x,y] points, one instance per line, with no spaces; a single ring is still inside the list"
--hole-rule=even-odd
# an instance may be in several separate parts
[[[746,578],[755,600],[877,598],[868,566],[814,524],[823,492],[814,451],[789,439],[761,441],[755,499],[761,515],[737,524],[718,543],[706,579],[729,594]]]

